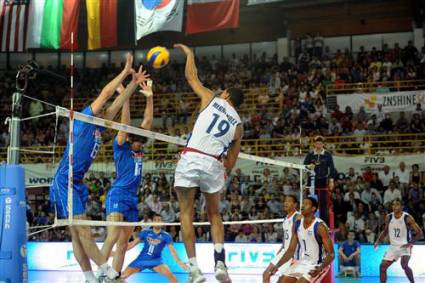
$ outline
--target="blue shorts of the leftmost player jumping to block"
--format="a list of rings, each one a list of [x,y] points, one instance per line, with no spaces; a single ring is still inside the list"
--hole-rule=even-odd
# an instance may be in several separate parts
[[[59,218],[68,217],[68,176],[55,175],[49,190],[50,203]],[[72,192],[72,214],[82,215],[86,212],[89,189],[82,182],[74,181]]]

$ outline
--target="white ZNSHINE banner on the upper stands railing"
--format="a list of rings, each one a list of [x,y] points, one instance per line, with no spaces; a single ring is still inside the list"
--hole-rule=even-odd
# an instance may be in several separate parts
[[[362,106],[366,112],[376,113],[378,112],[378,105],[382,105],[383,112],[399,112],[415,111],[418,103],[425,104],[424,90],[339,94],[335,97],[341,111],[350,106],[354,113],[358,112]]]

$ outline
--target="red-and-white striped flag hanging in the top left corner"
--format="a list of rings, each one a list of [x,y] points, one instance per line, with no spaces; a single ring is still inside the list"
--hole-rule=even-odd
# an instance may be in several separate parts
[[[0,51],[26,48],[29,0],[0,0]]]

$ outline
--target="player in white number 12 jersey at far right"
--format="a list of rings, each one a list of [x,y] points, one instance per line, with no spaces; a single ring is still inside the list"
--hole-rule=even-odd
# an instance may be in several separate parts
[[[422,238],[422,230],[412,216],[403,212],[400,199],[392,201],[393,212],[387,215],[385,228],[375,243],[375,249],[379,243],[388,235],[390,248],[382,259],[379,277],[381,283],[387,282],[387,269],[391,264],[401,258],[401,267],[410,282],[415,282],[412,269],[409,267],[410,255],[413,244]],[[413,231],[414,237],[411,237]]]

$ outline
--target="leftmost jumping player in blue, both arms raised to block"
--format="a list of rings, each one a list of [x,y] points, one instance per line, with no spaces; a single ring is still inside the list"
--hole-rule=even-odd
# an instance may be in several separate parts
[[[94,117],[101,117],[112,120],[118,111],[128,100],[138,84],[147,80],[148,75],[139,69],[136,73],[133,68],[133,57],[128,54],[126,65],[123,71],[109,82],[101,91],[100,95],[91,103],[90,106],[84,108],[83,114]],[[106,102],[115,93],[122,81],[129,75],[132,75],[131,83],[127,88],[114,100],[114,102],[104,111]],[[102,141],[102,127],[88,124],[76,120],[74,123],[74,156],[73,156],[73,218],[87,219],[85,210],[88,199],[88,188],[83,184],[84,174],[88,171],[90,165],[96,157]],[[59,168],[54,176],[53,183],[50,187],[50,201],[56,210],[58,217],[68,217],[68,150],[67,145],[64,156],[59,164]],[[98,282],[93,274],[90,259],[92,259],[101,269],[107,270],[108,266],[104,256],[98,249],[95,241],[91,236],[90,227],[88,226],[70,226],[72,236],[72,246],[74,256],[81,266],[86,278],[86,282]]]

